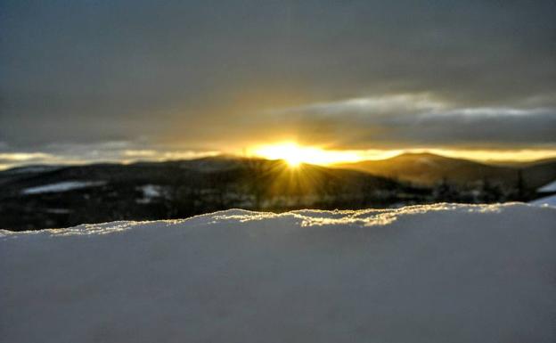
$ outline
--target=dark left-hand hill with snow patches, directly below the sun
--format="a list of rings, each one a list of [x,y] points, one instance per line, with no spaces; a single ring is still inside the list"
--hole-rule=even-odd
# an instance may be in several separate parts
[[[204,159],[0,172],[0,228],[182,218],[226,208],[386,207],[421,197],[382,176],[280,160]],[[421,201],[421,200],[419,200]]]

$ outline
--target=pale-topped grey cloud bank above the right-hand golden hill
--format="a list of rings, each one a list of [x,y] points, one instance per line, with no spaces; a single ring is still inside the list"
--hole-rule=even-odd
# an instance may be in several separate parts
[[[458,107],[427,94],[395,94],[318,102],[273,110],[310,135],[347,147],[556,147],[556,109]],[[347,133],[342,134],[342,133]]]

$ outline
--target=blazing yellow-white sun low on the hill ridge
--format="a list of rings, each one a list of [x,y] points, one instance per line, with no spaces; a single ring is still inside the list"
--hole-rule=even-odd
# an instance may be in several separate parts
[[[251,150],[255,156],[265,159],[282,159],[290,167],[303,163],[328,166],[358,157],[347,151],[327,151],[315,146],[302,146],[295,142],[282,142],[258,146]]]

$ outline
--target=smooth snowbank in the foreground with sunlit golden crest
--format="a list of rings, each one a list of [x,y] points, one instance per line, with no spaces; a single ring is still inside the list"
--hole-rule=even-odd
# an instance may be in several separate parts
[[[554,342],[556,208],[228,210],[0,235],[5,342]]]

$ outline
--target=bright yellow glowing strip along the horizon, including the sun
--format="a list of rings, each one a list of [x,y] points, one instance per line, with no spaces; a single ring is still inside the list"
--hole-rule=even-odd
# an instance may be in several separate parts
[[[110,151],[103,156],[99,152],[94,159],[79,159],[78,156],[57,155],[44,151],[36,152],[0,152],[0,170],[11,167],[22,167],[31,164],[46,165],[83,165],[89,163],[133,163],[136,161],[166,161],[179,159],[200,159],[220,154],[243,157],[258,157],[264,159],[283,159],[290,167],[300,164],[314,164],[320,166],[334,166],[356,163],[364,160],[390,159],[404,153],[424,153],[450,157],[454,159],[470,159],[479,162],[534,162],[540,159],[556,159],[556,148],[544,149],[472,149],[472,148],[409,148],[409,149],[329,149],[326,145],[301,145],[295,141],[279,141],[277,143],[260,143],[250,148],[231,148],[218,151],[191,150],[122,150]]]

